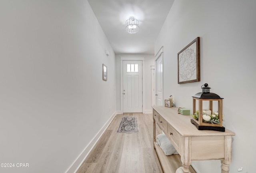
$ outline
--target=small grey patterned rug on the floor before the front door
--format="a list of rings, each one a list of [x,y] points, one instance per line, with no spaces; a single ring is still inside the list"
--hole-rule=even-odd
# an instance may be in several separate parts
[[[136,133],[139,132],[137,117],[122,117],[120,125],[116,133]]]

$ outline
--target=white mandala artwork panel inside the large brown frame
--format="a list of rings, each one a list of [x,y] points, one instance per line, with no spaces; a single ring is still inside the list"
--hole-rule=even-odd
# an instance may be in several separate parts
[[[180,82],[196,79],[196,49],[192,44],[179,55]]]

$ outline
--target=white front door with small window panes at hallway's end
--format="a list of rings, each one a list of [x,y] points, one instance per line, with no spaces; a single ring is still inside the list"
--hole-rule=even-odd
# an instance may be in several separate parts
[[[142,112],[142,61],[123,61],[123,112]]]

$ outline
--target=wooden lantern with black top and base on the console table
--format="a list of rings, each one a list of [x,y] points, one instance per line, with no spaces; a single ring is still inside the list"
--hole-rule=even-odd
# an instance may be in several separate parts
[[[202,87],[204,86],[204,87]],[[210,87],[208,84],[202,85],[202,92],[196,93],[193,97],[193,117],[191,123],[193,123],[198,130],[215,130],[225,131],[225,127],[222,127],[222,99],[215,93],[210,93]],[[198,111],[196,111],[196,100],[198,100]],[[209,102],[209,108],[203,109],[203,101]],[[218,101],[218,111],[213,112],[212,102]]]

